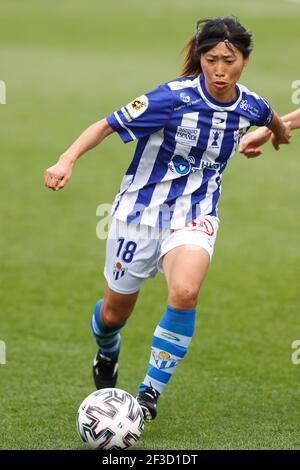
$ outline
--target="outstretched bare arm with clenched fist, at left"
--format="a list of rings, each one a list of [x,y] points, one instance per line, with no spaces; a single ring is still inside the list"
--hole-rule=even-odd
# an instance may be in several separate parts
[[[45,186],[53,191],[62,189],[69,181],[73,165],[88,150],[99,145],[114,130],[106,119],[88,127],[75,142],[59,157],[57,163],[45,171]]]

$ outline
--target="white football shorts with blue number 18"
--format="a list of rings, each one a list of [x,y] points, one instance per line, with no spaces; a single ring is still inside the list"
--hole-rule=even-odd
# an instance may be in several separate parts
[[[107,242],[104,276],[110,289],[120,294],[137,292],[145,279],[163,272],[162,258],[180,245],[214,251],[219,219],[199,217],[179,230],[158,229],[113,219]]]

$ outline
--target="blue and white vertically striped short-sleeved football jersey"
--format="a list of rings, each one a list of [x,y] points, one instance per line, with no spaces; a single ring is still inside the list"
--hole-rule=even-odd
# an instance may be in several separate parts
[[[268,103],[243,85],[230,103],[212,98],[204,76],[180,77],[107,117],[124,142],[137,140],[112,215],[179,229],[217,216],[222,173],[250,126],[268,125]]]

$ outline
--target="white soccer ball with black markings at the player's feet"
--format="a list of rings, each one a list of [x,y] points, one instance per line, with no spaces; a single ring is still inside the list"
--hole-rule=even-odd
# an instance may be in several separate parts
[[[137,400],[119,388],[91,393],[80,405],[77,431],[91,449],[121,450],[134,445],[144,429]]]

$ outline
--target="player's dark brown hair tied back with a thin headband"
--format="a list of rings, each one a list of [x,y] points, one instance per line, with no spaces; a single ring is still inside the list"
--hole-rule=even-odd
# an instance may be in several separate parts
[[[200,56],[215,47],[219,42],[225,42],[227,47],[235,46],[244,58],[249,57],[253,49],[252,34],[247,31],[234,16],[199,20],[196,33],[182,49],[186,51],[182,76],[197,76],[202,72]]]

